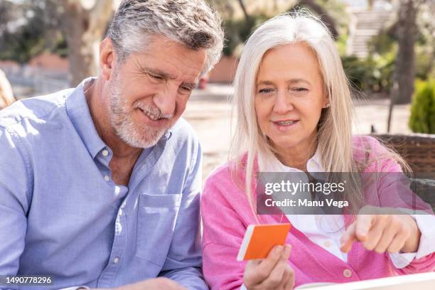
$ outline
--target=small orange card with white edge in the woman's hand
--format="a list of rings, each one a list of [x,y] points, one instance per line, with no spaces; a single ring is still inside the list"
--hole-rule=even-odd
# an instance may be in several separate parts
[[[284,246],[291,225],[249,225],[240,246],[237,261],[264,259],[276,245]]]

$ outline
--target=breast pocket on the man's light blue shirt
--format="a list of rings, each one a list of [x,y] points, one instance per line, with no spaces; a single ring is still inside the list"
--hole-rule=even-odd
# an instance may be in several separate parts
[[[175,229],[181,194],[139,197],[136,256],[163,266]]]

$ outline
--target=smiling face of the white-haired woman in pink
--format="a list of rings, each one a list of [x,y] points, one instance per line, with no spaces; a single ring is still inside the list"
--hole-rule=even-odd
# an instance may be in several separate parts
[[[316,55],[304,43],[273,48],[259,65],[255,88],[259,127],[275,149],[308,149],[328,103]]]

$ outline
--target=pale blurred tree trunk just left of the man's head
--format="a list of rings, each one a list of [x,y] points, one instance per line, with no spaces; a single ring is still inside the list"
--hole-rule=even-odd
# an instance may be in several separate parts
[[[93,2],[93,3],[92,3]],[[70,62],[70,84],[97,75],[100,41],[113,13],[112,0],[62,0]]]

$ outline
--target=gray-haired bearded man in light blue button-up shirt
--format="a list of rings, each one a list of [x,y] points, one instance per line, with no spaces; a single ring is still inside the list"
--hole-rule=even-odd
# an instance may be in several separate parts
[[[222,38],[204,1],[124,0],[97,78],[0,112],[0,275],[45,276],[19,289],[46,276],[43,289],[207,288],[201,150],[180,116]]]

